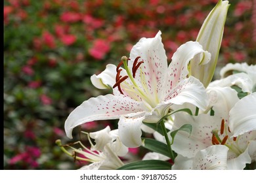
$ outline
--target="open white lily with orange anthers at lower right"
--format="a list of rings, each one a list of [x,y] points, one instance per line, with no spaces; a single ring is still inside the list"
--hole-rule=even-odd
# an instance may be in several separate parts
[[[217,95],[210,95],[214,116],[175,115],[175,125],[191,124],[193,129],[190,137],[177,133],[172,148],[179,156],[173,169],[244,169],[246,163],[255,161],[256,93],[234,102],[236,92],[227,91],[217,88]]]

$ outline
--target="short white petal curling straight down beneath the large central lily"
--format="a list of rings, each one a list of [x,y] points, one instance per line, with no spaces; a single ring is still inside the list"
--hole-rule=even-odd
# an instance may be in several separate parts
[[[139,118],[125,118],[121,116],[118,122],[118,131],[121,142],[129,148],[136,148],[142,145],[140,129],[144,116]]]

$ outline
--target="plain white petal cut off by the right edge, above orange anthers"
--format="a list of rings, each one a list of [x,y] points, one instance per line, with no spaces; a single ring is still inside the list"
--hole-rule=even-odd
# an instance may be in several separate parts
[[[256,130],[256,93],[240,99],[230,110],[230,130],[234,137]]]

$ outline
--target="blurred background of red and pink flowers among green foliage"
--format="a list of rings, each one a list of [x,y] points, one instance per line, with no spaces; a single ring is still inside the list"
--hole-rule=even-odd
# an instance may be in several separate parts
[[[219,68],[256,64],[255,1],[230,0]],[[168,61],[198,31],[217,0],[4,1],[4,169],[77,169],[55,144],[79,140],[116,121],[90,122],[70,141],[64,122],[97,90],[90,76],[129,56],[141,37],[162,32]],[[218,75],[216,75],[218,78]],[[141,157],[145,151],[131,149]]]

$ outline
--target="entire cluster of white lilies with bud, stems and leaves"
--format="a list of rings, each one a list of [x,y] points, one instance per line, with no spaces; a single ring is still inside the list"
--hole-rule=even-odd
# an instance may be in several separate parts
[[[229,63],[221,79],[211,82],[228,7],[219,0],[196,41],[182,44],[169,65],[159,31],[140,39],[119,65],[91,76],[96,88],[113,93],[75,108],[65,122],[66,135],[72,139],[75,127],[95,120],[119,119],[118,129],[85,133],[91,148],[60,140],[58,146],[91,162],[81,169],[255,169],[256,65]],[[152,152],[141,161],[122,161],[128,148],[139,146]]]

